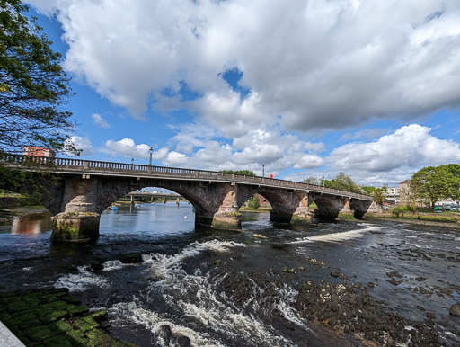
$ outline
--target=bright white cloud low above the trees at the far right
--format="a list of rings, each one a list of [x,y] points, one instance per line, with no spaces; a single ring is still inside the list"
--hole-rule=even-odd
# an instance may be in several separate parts
[[[375,142],[349,143],[326,158],[332,168],[347,171],[389,172],[423,165],[460,162],[460,144],[436,138],[428,127],[411,124]]]

